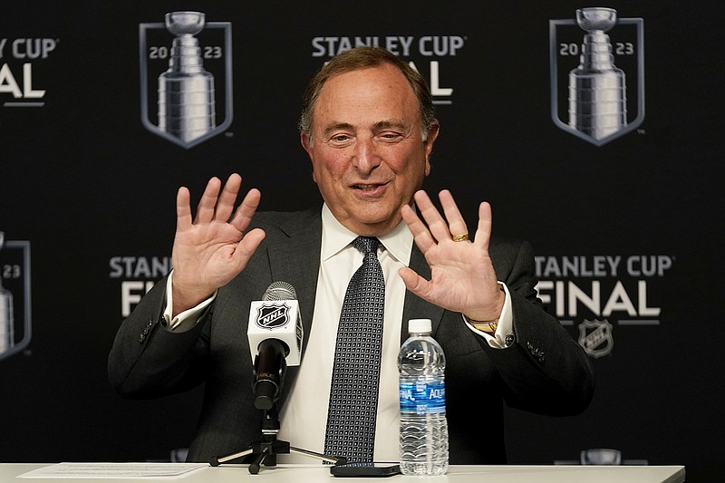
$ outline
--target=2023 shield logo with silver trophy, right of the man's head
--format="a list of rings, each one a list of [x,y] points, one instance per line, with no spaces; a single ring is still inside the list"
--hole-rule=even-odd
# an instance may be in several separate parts
[[[551,117],[602,146],[644,120],[644,21],[612,8],[576,10],[549,21]]]

